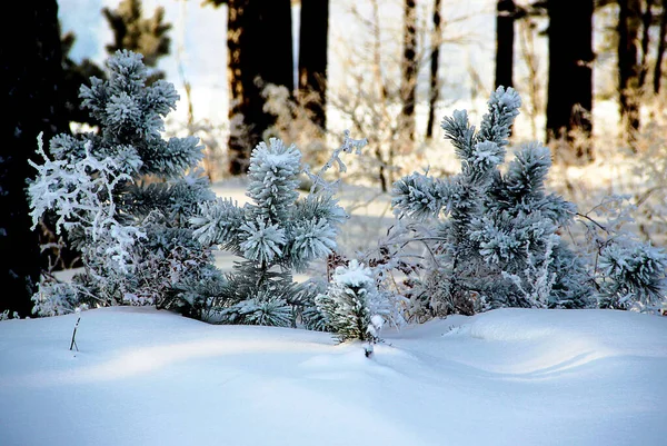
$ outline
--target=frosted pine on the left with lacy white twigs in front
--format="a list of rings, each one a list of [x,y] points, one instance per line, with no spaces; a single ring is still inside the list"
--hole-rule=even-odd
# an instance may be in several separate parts
[[[53,211],[58,232],[67,232],[83,262],[71,284],[42,283],[36,311],[130,304],[196,316],[203,297],[192,284],[216,274],[187,225],[198,204],[215,198],[197,169],[202,147],[195,137],[162,139],[163,118],[179,97],[169,82],[146,86],[141,54],[118,51],[108,69],[109,80],[92,78],[80,90],[99,130],[56,136],[49,153],[40,141],[44,162],[32,163],[33,225]]]

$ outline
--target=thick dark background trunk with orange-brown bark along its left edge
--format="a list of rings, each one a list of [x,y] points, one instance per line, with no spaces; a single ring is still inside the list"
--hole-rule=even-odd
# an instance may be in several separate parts
[[[250,152],[275,122],[275,117],[263,111],[263,87],[275,83],[293,91],[290,0],[229,0],[227,46],[229,116],[242,118],[242,127],[232,129],[229,137],[229,172],[240,175],[248,170]]]

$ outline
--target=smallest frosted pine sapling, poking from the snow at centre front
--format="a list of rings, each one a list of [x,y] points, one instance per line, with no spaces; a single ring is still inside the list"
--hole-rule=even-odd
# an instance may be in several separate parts
[[[327,291],[315,303],[325,315],[327,329],[340,341],[376,343],[390,310],[378,293],[372,270],[357,259],[336,268]]]

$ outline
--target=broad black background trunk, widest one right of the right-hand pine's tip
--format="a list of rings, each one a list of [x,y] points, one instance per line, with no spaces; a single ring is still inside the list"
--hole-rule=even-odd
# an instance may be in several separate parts
[[[549,0],[547,141],[565,138],[593,159],[593,0]],[[575,140],[573,131],[584,138]]]

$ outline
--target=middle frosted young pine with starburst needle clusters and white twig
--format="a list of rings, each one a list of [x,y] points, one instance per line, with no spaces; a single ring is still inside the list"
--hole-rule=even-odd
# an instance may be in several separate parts
[[[300,319],[309,328],[321,326],[311,311],[321,286],[297,284],[293,272],[305,271],[336,248],[338,227],[347,214],[335,198],[336,182],[325,180],[323,172],[335,162],[345,170],[340,151],[358,151],[365,143],[346,133],[325,167],[311,174],[301,165],[296,146],[270,138],[258,143],[250,157],[247,196],[251,202],[241,207],[218,198],[199,206],[190,218],[196,239],[241,258],[215,298],[220,323],[295,326]],[[312,186],[300,197],[305,175]]]

